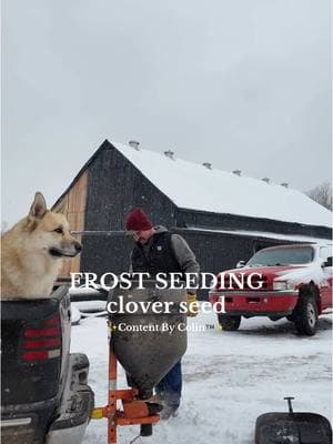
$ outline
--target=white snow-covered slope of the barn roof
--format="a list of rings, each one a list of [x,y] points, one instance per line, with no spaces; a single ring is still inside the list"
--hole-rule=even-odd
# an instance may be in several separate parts
[[[111,143],[179,208],[307,225],[332,224],[332,212],[301,191]]]

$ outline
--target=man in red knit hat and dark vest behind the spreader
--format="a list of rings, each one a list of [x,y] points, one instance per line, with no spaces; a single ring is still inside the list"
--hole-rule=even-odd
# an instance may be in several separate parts
[[[164,226],[153,226],[141,209],[131,211],[125,221],[127,230],[133,232],[135,246],[131,253],[131,271],[158,273],[196,273],[199,264],[186,241],[179,234],[170,233]],[[196,316],[195,291],[188,291],[188,315]],[[194,303],[194,304],[193,304]],[[191,305],[192,304],[192,305]],[[179,361],[155,387],[157,398],[163,404],[162,418],[174,415],[180,406],[182,370]]]

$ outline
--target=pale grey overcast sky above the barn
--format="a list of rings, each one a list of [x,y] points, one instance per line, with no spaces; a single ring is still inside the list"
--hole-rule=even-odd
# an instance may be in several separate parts
[[[2,20],[9,223],[105,138],[299,190],[331,178],[330,0],[3,0]]]

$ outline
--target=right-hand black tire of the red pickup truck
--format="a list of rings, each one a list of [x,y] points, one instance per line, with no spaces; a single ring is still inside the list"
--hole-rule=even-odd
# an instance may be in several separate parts
[[[300,297],[295,307],[294,323],[300,334],[313,336],[317,326],[317,306],[312,294],[304,294]]]

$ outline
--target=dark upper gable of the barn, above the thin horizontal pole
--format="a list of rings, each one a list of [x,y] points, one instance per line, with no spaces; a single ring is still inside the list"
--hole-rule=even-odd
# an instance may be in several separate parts
[[[155,224],[173,225],[174,204],[112,145],[88,173],[85,230],[124,230],[125,214],[135,206]]]

